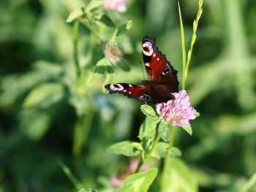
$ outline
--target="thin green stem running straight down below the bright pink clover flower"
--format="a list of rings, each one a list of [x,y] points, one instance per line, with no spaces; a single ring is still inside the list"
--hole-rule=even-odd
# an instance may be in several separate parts
[[[161,177],[161,181],[160,181],[161,188],[163,188],[163,186],[165,185],[165,180],[166,180],[166,177],[167,177],[167,171],[169,169],[169,164],[170,164],[170,150],[173,147],[175,134],[176,134],[176,126],[173,126],[172,131],[171,131],[171,135],[170,135],[169,146],[167,147],[168,154],[167,154],[167,157],[165,158],[165,161],[164,161],[164,167],[163,167],[162,177]]]

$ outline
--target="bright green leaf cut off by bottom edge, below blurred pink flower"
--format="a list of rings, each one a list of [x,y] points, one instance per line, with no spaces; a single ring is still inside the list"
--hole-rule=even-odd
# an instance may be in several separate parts
[[[146,192],[156,176],[157,168],[151,168],[146,172],[132,174],[124,181],[121,188],[113,192]]]

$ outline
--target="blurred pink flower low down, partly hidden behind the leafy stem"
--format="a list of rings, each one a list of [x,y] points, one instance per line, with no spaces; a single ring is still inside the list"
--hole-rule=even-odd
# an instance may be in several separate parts
[[[124,169],[124,172],[121,172],[121,174],[118,174],[117,176],[111,177],[111,183],[115,188],[121,187],[123,185],[124,180],[129,177],[129,175],[133,174],[139,164],[138,159],[132,160],[129,163],[129,167],[127,169]],[[148,169],[148,166],[146,164],[143,164],[140,168],[140,172],[144,172]]]

